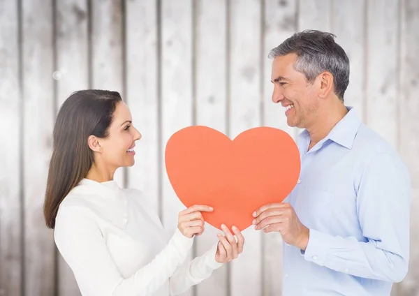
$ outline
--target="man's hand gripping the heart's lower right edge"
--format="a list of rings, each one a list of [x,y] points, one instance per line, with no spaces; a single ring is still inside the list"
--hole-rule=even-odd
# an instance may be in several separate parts
[[[264,205],[253,212],[256,230],[268,233],[278,231],[287,244],[305,250],[309,242],[309,228],[302,225],[288,202]]]

